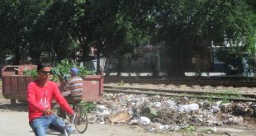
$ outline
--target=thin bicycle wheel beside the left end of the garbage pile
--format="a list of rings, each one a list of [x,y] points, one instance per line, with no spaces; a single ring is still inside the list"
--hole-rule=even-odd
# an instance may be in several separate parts
[[[78,113],[78,118],[74,121],[74,126],[80,134],[83,134],[88,128],[88,115],[83,106],[76,106],[75,111]]]

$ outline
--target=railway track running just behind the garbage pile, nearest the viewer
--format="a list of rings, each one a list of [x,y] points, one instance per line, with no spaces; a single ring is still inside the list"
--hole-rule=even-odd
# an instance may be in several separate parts
[[[228,100],[228,101],[252,101],[256,102],[256,94],[239,94],[230,92],[212,91],[185,91],[168,89],[148,89],[139,87],[120,87],[104,85],[105,92],[127,93],[127,94],[146,94],[148,96],[176,96],[176,97],[195,97],[199,99]]]

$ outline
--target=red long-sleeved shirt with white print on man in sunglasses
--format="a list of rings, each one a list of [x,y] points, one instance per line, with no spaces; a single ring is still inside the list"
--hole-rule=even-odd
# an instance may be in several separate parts
[[[59,88],[55,82],[47,81],[44,87],[40,86],[38,80],[30,82],[27,86],[29,121],[31,122],[39,118],[43,115],[45,109],[51,109],[53,98],[59,103],[62,109],[67,111],[70,115],[73,114],[73,109],[60,94]]]

